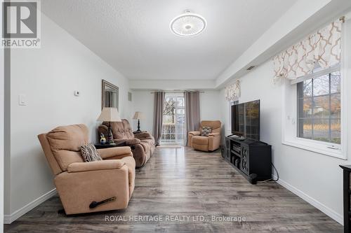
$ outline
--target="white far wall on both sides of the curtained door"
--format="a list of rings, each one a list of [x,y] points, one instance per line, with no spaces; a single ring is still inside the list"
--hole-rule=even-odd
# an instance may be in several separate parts
[[[200,93],[200,118],[201,120],[221,120],[222,111],[218,104],[220,92],[204,91]],[[154,94],[150,91],[134,91],[133,106],[135,111],[142,111],[146,119],[140,121],[140,129],[152,132],[154,118]],[[137,121],[133,120],[133,129],[137,129]]]

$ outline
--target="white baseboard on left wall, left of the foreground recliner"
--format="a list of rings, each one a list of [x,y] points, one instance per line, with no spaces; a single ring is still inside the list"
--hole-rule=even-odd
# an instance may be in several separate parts
[[[20,218],[20,216],[23,216],[25,213],[34,209],[34,207],[39,206],[39,204],[41,204],[41,203],[45,202],[47,199],[55,196],[56,193],[57,193],[56,189],[54,188],[53,190],[46,192],[46,194],[42,195],[41,197],[38,197],[33,202],[29,202],[27,205],[23,206],[21,209],[18,209],[17,211],[11,213],[11,215],[4,215],[4,224],[13,223],[13,221]]]

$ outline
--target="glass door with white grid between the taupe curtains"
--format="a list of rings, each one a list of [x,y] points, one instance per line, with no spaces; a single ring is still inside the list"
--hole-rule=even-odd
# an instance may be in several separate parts
[[[185,103],[183,93],[166,93],[161,143],[184,144]]]

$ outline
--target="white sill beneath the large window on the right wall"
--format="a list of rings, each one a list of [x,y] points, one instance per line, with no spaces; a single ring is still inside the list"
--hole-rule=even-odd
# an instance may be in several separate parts
[[[300,148],[303,150],[312,151],[314,153],[319,153],[322,155],[336,157],[341,160],[347,160],[345,151],[343,151],[342,149],[328,148],[328,146],[331,146],[331,144],[327,144],[327,143],[318,143],[308,139],[296,138],[296,139],[290,139],[290,140],[282,140],[282,144],[286,146],[293,146],[295,148]]]

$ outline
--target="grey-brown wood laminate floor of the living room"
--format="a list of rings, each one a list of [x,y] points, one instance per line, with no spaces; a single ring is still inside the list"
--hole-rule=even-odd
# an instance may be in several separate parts
[[[5,232],[343,232],[281,185],[251,185],[219,151],[191,148],[158,148],[137,170],[126,210],[67,217],[59,209],[52,197]]]

